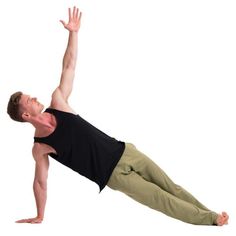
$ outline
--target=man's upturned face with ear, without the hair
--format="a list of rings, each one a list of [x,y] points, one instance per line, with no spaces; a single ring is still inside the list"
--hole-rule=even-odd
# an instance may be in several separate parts
[[[23,110],[24,119],[40,114],[44,108],[44,106],[37,101],[37,98],[31,97],[26,94],[21,95],[19,104],[21,105],[21,109]]]

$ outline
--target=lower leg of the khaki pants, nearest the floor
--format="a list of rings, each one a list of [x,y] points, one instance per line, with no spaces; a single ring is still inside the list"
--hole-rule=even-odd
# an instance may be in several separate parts
[[[144,180],[134,171],[126,175],[120,174],[118,177],[112,176],[108,186],[181,221],[197,225],[216,224],[217,214],[215,212],[202,210],[165,192],[155,184]]]

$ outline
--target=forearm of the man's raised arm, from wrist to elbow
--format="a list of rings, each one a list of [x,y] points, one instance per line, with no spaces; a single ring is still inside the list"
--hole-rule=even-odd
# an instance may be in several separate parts
[[[75,69],[78,52],[78,32],[69,32],[68,44],[63,57],[63,70]]]

